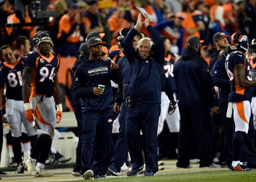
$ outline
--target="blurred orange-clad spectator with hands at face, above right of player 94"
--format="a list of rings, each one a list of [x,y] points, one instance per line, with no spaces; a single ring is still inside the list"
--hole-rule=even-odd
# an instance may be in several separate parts
[[[85,27],[80,6],[75,3],[69,5],[68,13],[59,20],[58,53],[61,56],[76,56],[80,39],[85,37]],[[83,40],[83,39],[82,39]]]

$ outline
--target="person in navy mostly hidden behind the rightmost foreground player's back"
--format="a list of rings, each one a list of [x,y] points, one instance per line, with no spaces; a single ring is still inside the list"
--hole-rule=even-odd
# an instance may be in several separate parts
[[[223,52],[223,53],[222,53]],[[234,121],[232,118],[227,118],[228,110],[228,95],[230,93],[230,83],[229,76],[225,70],[225,59],[227,58],[227,51],[223,50],[222,56],[215,62],[212,70],[210,71],[210,76],[213,78],[214,85],[218,87],[217,97],[219,102],[220,117],[222,120],[223,128],[223,141],[224,141],[224,151],[223,151],[223,161],[226,162],[227,166],[230,168],[232,163],[232,140],[234,134]],[[223,163],[223,164],[224,164]]]

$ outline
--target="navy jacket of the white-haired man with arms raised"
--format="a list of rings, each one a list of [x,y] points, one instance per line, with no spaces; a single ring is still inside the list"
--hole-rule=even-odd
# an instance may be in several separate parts
[[[164,43],[158,32],[150,25],[147,31],[154,44],[151,56],[142,59],[132,47],[133,38],[137,31],[132,28],[123,40],[125,55],[130,63],[130,82],[127,95],[134,102],[157,104],[161,103],[161,91],[165,82],[163,70]]]

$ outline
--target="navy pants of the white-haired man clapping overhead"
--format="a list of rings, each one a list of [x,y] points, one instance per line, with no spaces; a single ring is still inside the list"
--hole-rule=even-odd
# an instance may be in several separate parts
[[[158,171],[157,127],[160,112],[160,104],[134,103],[133,108],[127,107],[125,135],[133,170],[144,164],[140,145],[140,130],[142,130],[146,171],[154,173]]]

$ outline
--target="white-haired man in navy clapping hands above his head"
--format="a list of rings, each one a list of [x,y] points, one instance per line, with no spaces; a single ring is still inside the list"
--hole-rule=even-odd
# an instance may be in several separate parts
[[[161,90],[166,79],[163,71],[164,44],[157,31],[149,25],[150,18],[138,21],[123,41],[124,52],[130,63],[130,84],[127,88],[126,138],[132,161],[132,170],[127,176],[137,176],[144,167],[140,146],[140,130],[145,144],[145,176],[155,176],[157,165],[157,127],[161,111]],[[142,38],[138,52],[132,47],[137,31],[146,27],[150,38]],[[154,45],[153,45],[154,44]],[[154,51],[155,54],[152,54]],[[139,56],[138,56],[139,55]]]

